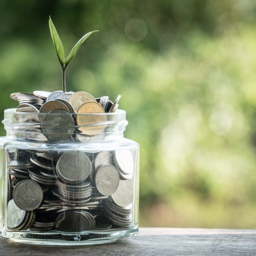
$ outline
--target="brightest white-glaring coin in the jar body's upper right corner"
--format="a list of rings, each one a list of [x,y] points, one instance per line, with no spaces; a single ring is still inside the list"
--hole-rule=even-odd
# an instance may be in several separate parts
[[[116,149],[114,158],[118,169],[125,175],[129,175],[134,172],[134,160],[130,150]]]

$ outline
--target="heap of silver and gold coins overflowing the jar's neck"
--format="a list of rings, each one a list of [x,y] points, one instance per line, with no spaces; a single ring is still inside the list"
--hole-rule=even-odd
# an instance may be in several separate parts
[[[73,134],[77,134],[76,138],[81,141],[83,140],[81,135],[95,136],[104,133],[108,120],[106,115],[79,114],[118,112],[121,96],[119,95],[114,102],[111,102],[108,96],[94,98],[86,92],[34,91],[33,93],[12,93],[10,97],[20,104],[16,109],[17,112],[28,113],[28,115],[17,117],[20,118],[18,122],[26,123],[26,126],[30,123],[24,131],[37,133],[35,138],[26,137],[26,133],[21,134],[20,136],[24,139],[59,141],[71,138],[74,140]],[[47,115],[48,113],[54,115]]]

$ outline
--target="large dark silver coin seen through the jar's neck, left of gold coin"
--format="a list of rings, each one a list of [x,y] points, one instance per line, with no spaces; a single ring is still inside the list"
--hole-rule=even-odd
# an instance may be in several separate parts
[[[50,141],[64,140],[75,131],[75,121],[66,111],[54,110],[44,116],[42,129]]]

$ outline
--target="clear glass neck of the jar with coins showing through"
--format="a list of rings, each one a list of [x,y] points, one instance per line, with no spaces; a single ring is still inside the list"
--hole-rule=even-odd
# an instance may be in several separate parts
[[[104,114],[41,114],[6,110],[3,124],[9,140],[41,143],[94,142],[123,138],[125,111]],[[79,122],[82,120],[83,122]]]

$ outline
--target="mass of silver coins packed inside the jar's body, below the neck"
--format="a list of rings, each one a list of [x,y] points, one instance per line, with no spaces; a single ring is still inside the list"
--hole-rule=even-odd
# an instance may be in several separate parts
[[[134,153],[7,148],[9,230],[131,227]]]

